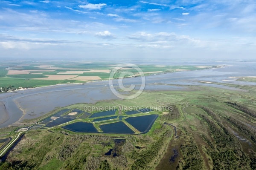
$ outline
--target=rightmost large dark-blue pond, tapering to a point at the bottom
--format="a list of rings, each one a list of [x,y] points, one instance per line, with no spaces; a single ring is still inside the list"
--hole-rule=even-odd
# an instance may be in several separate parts
[[[147,133],[151,129],[157,117],[158,115],[144,115],[129,117],[126,118],[125,121],[131,124],[131,126],[135,127],[135,129],[139,130],[141,133]]]

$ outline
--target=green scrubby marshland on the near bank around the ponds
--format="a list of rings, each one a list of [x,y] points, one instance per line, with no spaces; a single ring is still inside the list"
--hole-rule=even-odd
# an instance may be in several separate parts
[[[236,87],[245,91],[191,86],[189,91],[145,91],[129,101],[81,103],[57,108],[41,118],[31,120],[38,121],[40,126],[24,132],[25,135],[0,168],[184,170],[189,167],[191,170],[254,170],[256,95],[253,94],[256,88]],[[84,107],[160,107],[166,106],[165,103],[171,104],[168,107],[172,109],[153,109],[144,113],[137,111],[134,114],[116,110],[114,115],[98,114],[96,117],[92,115],[98,112],[93,110],[91,115],[87,113],[89,117],[81,118]],[[45,126],[48,121],[54,122],[58,120],[56,117],[64,118],[67,115],[73,116],[73,120],[53,127]],[[131,118],[145,118],[149,115],[158,117],[144,134],[141,132],[147,127],[129,121]],[[103,119],[94,121],[99,118]],[[125,132],[129,132],[126,131],[128,127],[134,134],[102,132],[106,128],[112,132],[115,123],[124,128]],[[26,124],[23,128],[33,125],[29,121]],[[94,133],[79,132],[77,128],[73,131],[73,125],[93,128]],[[4,138],[14,134],[12,131]]]

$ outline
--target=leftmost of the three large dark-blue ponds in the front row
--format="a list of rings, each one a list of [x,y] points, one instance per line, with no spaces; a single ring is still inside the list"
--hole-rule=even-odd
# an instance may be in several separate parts
[[[94,127],[94,125],[92,123],[87,123],[87,122],[82,122],[82,121],[66,125],[62,128],[66,129],[66,130],[73,131],[73,132],[83,132],[83,133],[97,133],[98,132],[98,130],[96,129],[96,127]]]

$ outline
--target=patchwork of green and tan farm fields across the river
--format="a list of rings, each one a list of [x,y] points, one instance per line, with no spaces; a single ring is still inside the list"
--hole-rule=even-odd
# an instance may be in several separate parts
[[[96,61],[2,61],[0,65],[0,87],[40,87],[55,84],[85,83],[108,80],[111,70],[118,62]],[[162,74],[166,72],[210,69],[217,66],[169,66],[138,64],[144,75]],[[221,67],[221,66],[218,66]],[[140,76],[142,72],[125,67],[121,72],[131,72]],[[119,78],[116,72],[113,78]],[[129,77],[129,75],[125,75]]]

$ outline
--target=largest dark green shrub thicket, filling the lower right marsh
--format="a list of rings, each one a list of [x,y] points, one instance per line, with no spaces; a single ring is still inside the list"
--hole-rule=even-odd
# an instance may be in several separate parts
[[[207,115],[198,116],[207,122],[215,140],[215,143],[212,143],[207,136],[201,135],[211,147],[211,150],[207,149],[207,154],[212,158],[214,169],[250,170],[250,158],[243,152],[236,136],[221,123],[215,124]]]

